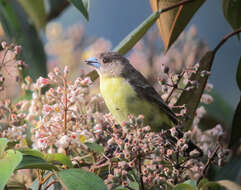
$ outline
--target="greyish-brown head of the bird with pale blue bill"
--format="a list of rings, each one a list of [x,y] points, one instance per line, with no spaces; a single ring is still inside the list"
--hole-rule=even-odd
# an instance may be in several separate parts
[[[104,77],[120,76],[129,65],[125,57],[115,52],[101,53],[85,60],[85,63],[94,67],[98,74]]]

